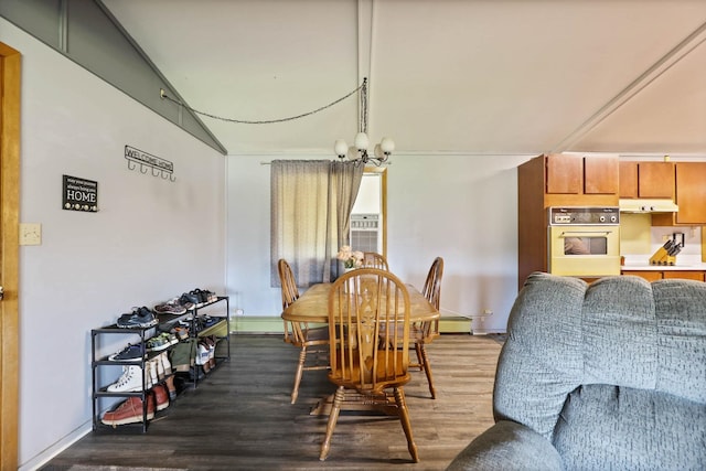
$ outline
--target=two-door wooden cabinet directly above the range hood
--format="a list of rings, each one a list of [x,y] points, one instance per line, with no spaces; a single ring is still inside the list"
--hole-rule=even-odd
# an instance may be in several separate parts
[[[620,162],[619,194],[624,199],[674,199],[674,162]]]

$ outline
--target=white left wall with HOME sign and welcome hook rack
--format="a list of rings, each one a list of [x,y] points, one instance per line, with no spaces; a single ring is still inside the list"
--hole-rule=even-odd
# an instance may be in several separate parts
[[[23,55],[20,221],[42,224],[42,244],[20,248],[31,469],[90,429],[90,329],[190,289],[224,292],[225,159],[2,19],[0,41]],[[129,170],[126,144],[172,161],[175,182]],[[62,210],[63,174],[98,182],[98,213]]]

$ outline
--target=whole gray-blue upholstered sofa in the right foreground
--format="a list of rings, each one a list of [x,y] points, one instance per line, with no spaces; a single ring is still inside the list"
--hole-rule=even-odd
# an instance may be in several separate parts
[[[706,470],[706,283],[531,275],[448,470]]]

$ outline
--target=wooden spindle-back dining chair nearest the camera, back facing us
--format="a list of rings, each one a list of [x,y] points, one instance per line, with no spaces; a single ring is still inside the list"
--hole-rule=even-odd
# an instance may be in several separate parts
[[[378,342],[381,331],[394,339]],[[409,382],[409,293],[389,271],[360,268],[339,277],[329,295],[329,381],[336,385],[320,460],[325,460],[346,393],[366,402],[394,397],[394,413],[407,437],[414,462],[419,461],[403,386]],[[392,389],[392,390],[391,390]]]

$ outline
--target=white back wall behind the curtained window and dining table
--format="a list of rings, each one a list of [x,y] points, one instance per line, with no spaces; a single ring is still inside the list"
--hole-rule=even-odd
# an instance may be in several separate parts
[[[400,147],[403,147],[400,144]],[[431,261],[445,259],[442,314],[494,313],[484,329],[504,332],[517,293],[516,167],[532,156],[395,153],[387,170],[387,259],[421,287]],[[228,291],[245,315],[279,315],[269,283],[271,159],[329,156],[229,156]]]

